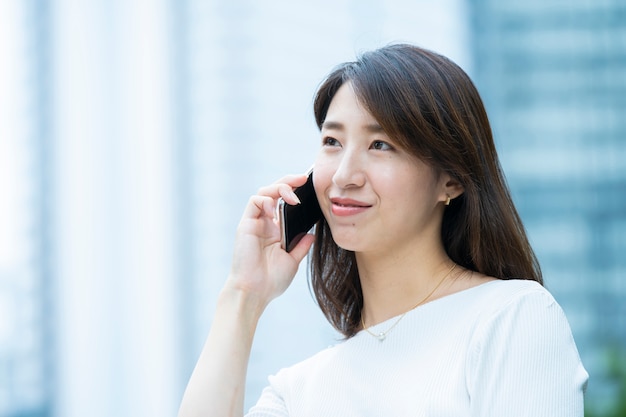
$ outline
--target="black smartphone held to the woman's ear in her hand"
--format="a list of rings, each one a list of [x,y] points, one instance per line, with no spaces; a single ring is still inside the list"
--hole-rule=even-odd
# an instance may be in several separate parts
[[[313,170],[309,170],[307,174],[306,183],[293,190],[300,199],[300,204],[292,206],[282,198],[278,200],[281,246],[287,252],[291,252],[322,218],[322,210],[313,188]]]

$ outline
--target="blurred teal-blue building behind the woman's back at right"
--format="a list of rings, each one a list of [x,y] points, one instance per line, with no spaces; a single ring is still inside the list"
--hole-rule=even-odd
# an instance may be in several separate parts
[[[591,374],[588,400],[606,402],[606,348],[626,352],[626,3],[470,4],[505,173]]]

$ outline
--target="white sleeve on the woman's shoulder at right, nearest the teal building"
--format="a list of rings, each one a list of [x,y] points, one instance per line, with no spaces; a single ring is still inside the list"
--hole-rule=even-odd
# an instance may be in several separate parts
[[[468,350],[472,417],[582,417],[588,374],[561,307],[537,287],[476,329]]]

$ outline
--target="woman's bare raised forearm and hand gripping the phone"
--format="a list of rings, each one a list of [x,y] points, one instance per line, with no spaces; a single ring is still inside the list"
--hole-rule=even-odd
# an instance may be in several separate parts
[[[313,243],[313,237],[306,236],[293,251],[285,252],[274,219],[278,197],[298,203],[292,187],[305,181],[302,175],[286,177],[250,198],[237,228],[231,271],[179,417],[243,415],[246,370],[258,320],[270,301],[287,289]]]

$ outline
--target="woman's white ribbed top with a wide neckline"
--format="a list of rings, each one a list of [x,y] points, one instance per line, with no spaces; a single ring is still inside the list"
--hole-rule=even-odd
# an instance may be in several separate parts
[[[552,295],[497,280],[281,370],[248,416],[582,417],[587,379]]]

